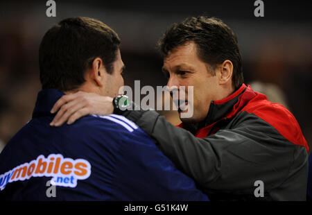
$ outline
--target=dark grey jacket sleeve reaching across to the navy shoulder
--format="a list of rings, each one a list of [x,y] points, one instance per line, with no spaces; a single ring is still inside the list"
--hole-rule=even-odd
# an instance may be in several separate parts
[[[156,139],[159,149],[204,190],[253,194],[257,180],[266,190],[274,189],[306,165],[304,147],[287,141],[253,114],[246,113],[233,128],[206,138],[171,125],[155,111],[125,115]]]

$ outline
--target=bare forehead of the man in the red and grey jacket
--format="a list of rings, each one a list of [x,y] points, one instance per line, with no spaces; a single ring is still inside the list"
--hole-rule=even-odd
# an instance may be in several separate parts
[[[182,65],[198,65],[199,62],[201,60],[197,55],[196,44],[194,42],[188,42],[182,46],[177,46],[177,48],[168,53],[166,58],[164,58],[164,68],[172,69],[173,67],[181,67]]]

